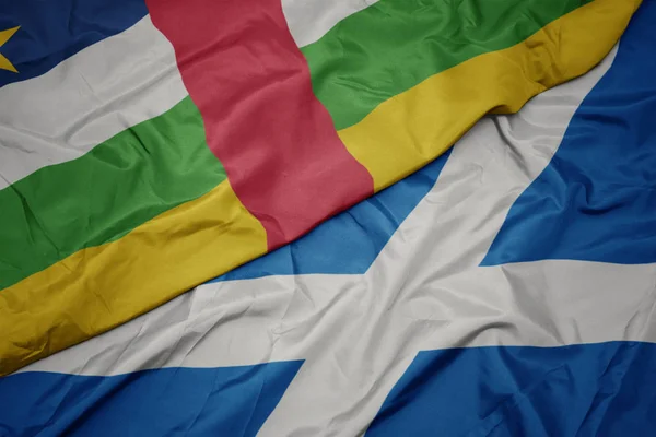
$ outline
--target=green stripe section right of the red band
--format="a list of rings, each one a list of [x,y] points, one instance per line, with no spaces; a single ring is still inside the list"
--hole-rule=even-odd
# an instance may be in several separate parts
[[[301,50],[340,130],[476,56],[520,43],[591,0],[380,0]]]

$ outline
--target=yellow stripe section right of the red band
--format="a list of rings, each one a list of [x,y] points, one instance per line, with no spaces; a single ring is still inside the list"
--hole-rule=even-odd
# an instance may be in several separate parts
[[[339,137],[370,170],[378,191],[443,154],[487,113],[515,113],[536,94],[589,71],[617,43],[640,3],[588,3],[520,44],[426,79]]]

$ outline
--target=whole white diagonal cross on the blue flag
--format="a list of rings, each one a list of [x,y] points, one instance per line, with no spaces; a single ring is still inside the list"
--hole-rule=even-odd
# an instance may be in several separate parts
[[[203,285],[22,371],[115,375],[301,358],[260,435],[361,435],[420,350],[656,341],[656,264],[478,267],[614,54],[518,115],[477,125],[366,274]]]

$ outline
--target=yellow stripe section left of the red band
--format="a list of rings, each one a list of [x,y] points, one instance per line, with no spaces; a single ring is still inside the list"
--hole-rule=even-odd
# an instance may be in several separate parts
[[[227,180],[0,293],[0,375],[124,323],[267,251]]]

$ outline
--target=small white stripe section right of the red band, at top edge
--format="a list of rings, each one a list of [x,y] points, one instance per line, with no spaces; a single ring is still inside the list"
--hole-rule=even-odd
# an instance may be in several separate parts
[[[282,10],[298,47],[307,46],[337,23],[378,0],[282,0]]]

